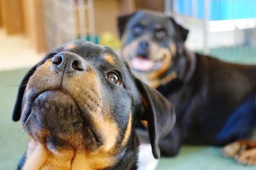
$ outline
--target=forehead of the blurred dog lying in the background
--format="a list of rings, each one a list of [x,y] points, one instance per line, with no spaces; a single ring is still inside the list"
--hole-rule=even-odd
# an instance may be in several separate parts
[[[163,13],[152,11],[138,11],[129,21],[129,25],[132,26],[132,24],[147,25],[147,27],[154,27],[156,29],[161,27],[174,29],[169,17],[163,15]]]

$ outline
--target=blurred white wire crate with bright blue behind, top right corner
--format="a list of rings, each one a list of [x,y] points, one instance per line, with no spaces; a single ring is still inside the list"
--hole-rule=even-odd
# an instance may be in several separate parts
[[[165,0],[189,29],[186,46],[229,62],[256,64],[256,0]]]

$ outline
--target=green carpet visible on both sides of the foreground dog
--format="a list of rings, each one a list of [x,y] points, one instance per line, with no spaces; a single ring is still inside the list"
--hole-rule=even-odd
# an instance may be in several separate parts
[[[26,150],[28,138],[21,130],[20,122],[12,122],[12,109],[19,83],[28,69],[0,72],[0,169],[17,167]],[[249,170],[232,159],[222,157],[220,148],[209,146],[184,146],[178,157],[161,158],[157,169],[175,170]]]

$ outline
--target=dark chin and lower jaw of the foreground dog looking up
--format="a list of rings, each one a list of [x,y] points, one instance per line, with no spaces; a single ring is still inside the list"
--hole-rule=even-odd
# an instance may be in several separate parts
[[[24,129],[37,141],[54,146],[71,146],[97,150],[102,136],[92,120],[84,120],[71,96],[61,91],[46,91],[36,97]]]

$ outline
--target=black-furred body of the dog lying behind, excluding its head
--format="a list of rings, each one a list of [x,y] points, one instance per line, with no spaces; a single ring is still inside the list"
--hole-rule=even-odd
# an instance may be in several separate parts
[[[195,57],[195,71],[189,80],[179,79],[179,89],[169,93],[175,88],[171,83],[158,88],[177,113],[177,124],[161,141],[163,155],[176,155],[181,143],[223,146],[253,138],[256,108],[248,99],[255,100],[256,67],[229,64],[198,53]],[[243,113],[248,106],[253,109]]]

